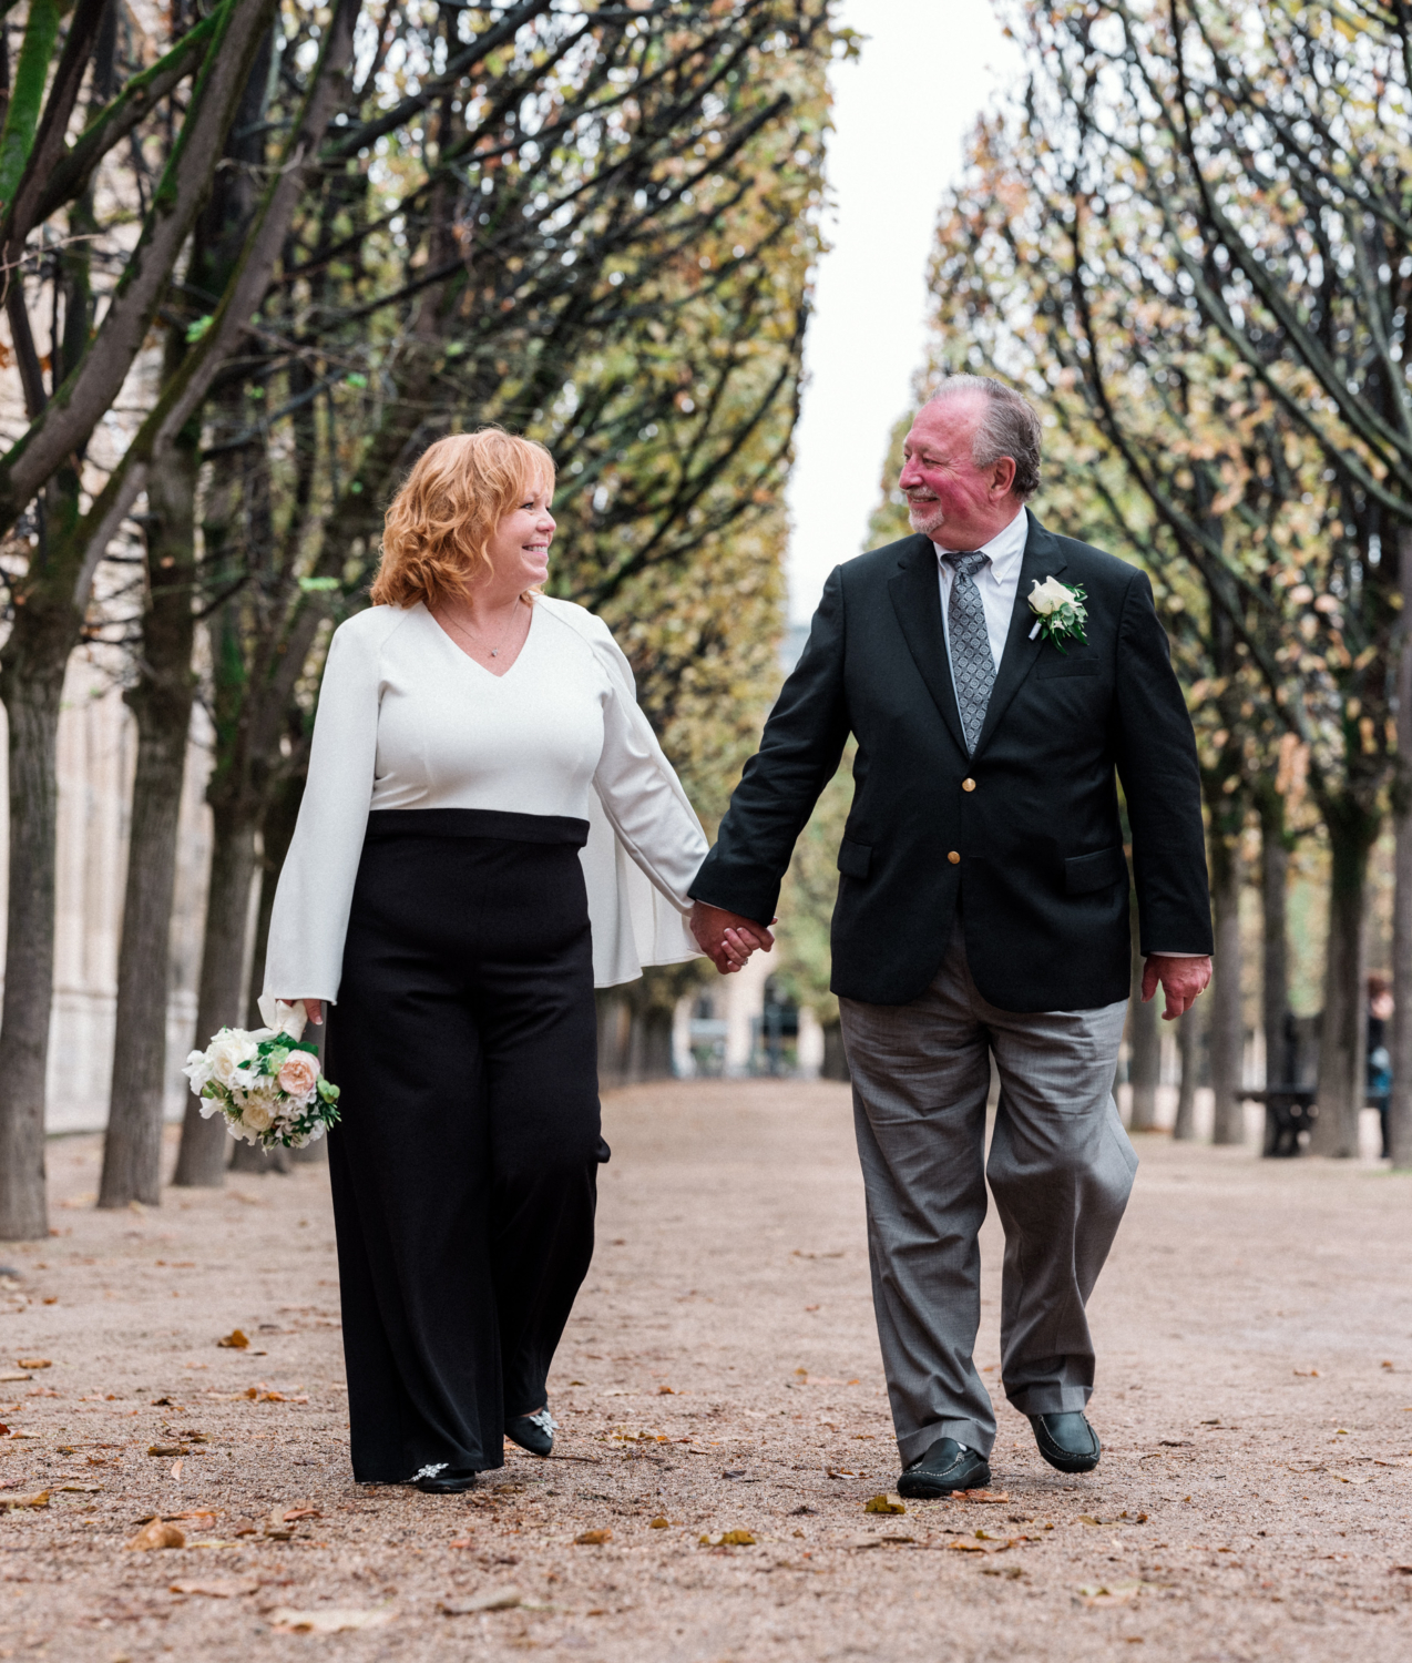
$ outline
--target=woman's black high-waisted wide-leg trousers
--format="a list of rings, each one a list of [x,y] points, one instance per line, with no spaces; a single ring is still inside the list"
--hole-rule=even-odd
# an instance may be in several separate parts
[[[353,1472],[504,1465],[594,1252],[587,822],[368,818],[328,1073]]]

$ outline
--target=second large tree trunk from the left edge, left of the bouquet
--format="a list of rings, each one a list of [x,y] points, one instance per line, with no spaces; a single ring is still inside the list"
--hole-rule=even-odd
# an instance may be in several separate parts
[[[181,777],[191,727],[198,469],[193,439],[163,457],[148,487],[150,599],[138,682],[123,695],[136,717],[138,758],[100,1207],[125,1207],[130,1201],[155,1207],[161,1201],[166,970]]]

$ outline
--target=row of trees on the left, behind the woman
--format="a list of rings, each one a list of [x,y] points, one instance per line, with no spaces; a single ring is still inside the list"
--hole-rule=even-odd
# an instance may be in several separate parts
[[[55,728],[81,644],[121,655],[138,733],[101,1206],[160,1192],[193,707],[205,1036],[258,986],[323,650],[426,442],[486,421],[549,442],[552,589],[614,625],[704,815],[772,690],[825,70],[852,50],[825,0],[168,18],[151,40],[121,0],[32,0],[5,25],[3,1237],[47,1229]],[[176,1182],[218,1184],[225,1144],[193,1106]]]

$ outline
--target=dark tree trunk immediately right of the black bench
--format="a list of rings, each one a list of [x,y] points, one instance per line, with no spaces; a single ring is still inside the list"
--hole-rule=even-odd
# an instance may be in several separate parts
[[[1319,1118],[1311,1154],[1349,1159],[1359,1152],[1359,1114],[1367,1096],[1365,890],[1379,817],[1349,797],[1321,805],[1329,832],[1329,950],[1324,1021],[1319,1029]]]

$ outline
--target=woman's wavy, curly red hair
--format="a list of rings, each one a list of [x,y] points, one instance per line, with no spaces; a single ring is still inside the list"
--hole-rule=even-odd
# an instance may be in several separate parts
[[[417,457],[383,526],[374,607],[454,604],[492,570],[496,526],[527,496],[554,489],[554,457],[502,427],[449,434]]]

